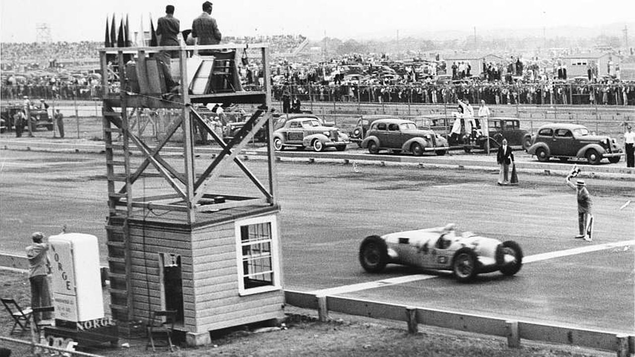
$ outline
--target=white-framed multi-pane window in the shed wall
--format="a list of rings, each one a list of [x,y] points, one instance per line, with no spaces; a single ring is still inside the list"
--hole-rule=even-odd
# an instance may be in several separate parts
[[[276,217],[236,222],[239,293],[280,288]]]

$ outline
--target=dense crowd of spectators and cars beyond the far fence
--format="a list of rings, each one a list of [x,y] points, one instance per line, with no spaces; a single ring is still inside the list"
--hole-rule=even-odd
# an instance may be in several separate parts
[[[272,52],[290,53],[305,41],[304,36],[225,37],[231,43],[270,43]],[[101,77],[91,71],[72,71],[56,65],[55,58],[97,60],[98,42],[13,44],[3,43],[3,99],[23,96],[46,99],[91,99],[101,95]],[[46,69],[11,70],[15,64],[43,55]],[[39,57],[38,57],[39,56]],[[56,57],[57,56],[57,57]],[[453,103],[457,99],[488,104],[591,104],[635,105],[635,82],[613,76],[598,77],[589,65],[586,80],[572,80],[558,58],[505,62],[447,64],[443,58],[391,60],[386,55],[349,54],[324,62],[293,62],[279,57],[271,64],[274,99],[284,95],[306,101],[377,103]],[[255,59],[242,66],[245,88],[262,85],[262,67]],[[445,75],[444,75],[445,73]]]

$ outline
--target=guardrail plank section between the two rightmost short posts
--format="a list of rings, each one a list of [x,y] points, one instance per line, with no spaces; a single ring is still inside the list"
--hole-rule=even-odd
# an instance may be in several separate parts
[[[518,323],[521,339],[615,351],[615,333],[538,323]]]

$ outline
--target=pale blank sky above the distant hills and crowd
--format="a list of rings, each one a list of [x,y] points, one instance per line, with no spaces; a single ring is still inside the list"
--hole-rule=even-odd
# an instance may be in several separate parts
[[[632,23],[635,1],[613,0],[212,0],[212,16],[225,36],[302,34],[319,41],[406,37],[438,30],[476,30]],[[131,30],[164,15],[173,4],[181,29],[189,29],[203,1],[0,0],[2,42],[34,42],[37,24],[53,41],[103,41],[106,18],[128,14]],[[632,29],[635,36],[635,29]],[[540,36],[542,34],[539,34]],[[621,34],[613,34],[621,36]]]

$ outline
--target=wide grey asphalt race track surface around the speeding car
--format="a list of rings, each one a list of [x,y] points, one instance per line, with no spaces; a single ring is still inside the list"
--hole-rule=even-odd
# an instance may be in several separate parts
[[[205,159],[199,158],[199,171]],[[247,165],[257,175],[265,170],[264,161]],[[526,174],[517,187],[498,187],[496,170],[305,161],[283,161],[276,169],[286,288],[635,330],[635,205],[625,206],[635,196],[632,181],[587,179],[596,217],[589,243],[573,239],[575,195],[561,176]],[[32,231],[50,235],[67,224],[69,231],[100,238],[105,264],[104,172],[100,154],[0,151],[0,252],[22,254]],[[227,193],[255,190],[234,166],[215,186]],[[149,177],[137,189],[154,194],[165,187]],[[448,222],[460,230],[513,239],[528,261],[514,277],[486,274],[467,285],[448,274],[409,267],[368,274],[359,266],[364,236]],[[563,251],[568,254],[552,253]],[[351,288],[359,283],[368,285]]]

